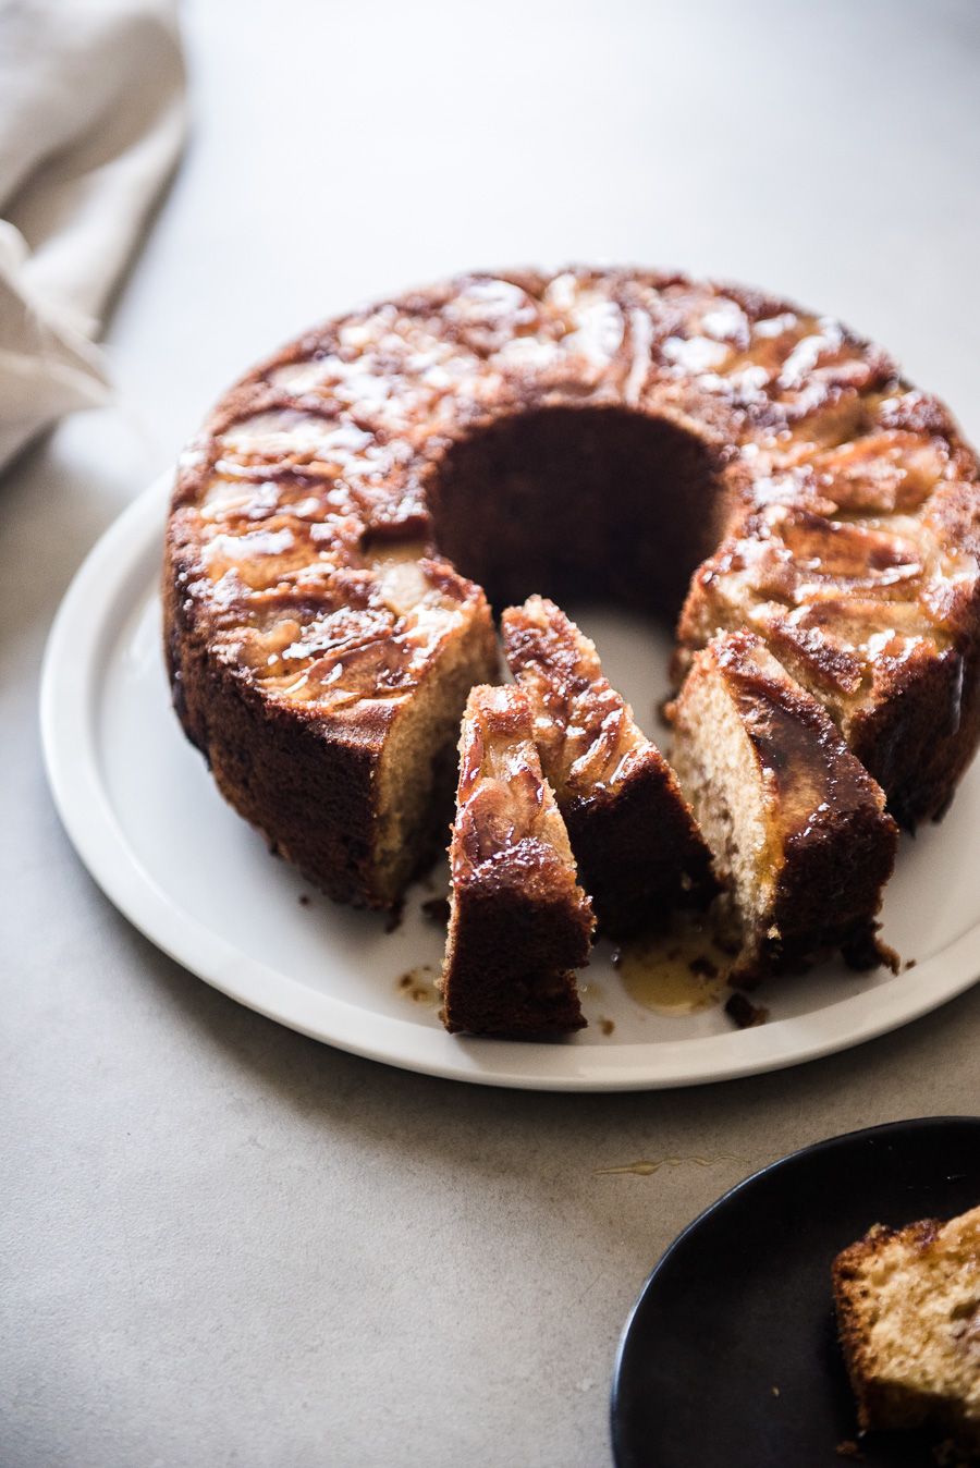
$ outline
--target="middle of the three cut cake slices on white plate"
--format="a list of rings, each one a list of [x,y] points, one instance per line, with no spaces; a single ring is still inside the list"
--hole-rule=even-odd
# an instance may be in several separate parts
[[[666,759],[603,675],[594,643],[541,596],[502,618],[511,672],[528,696],[544,775],[604,932],[662,922],[710,860]]]

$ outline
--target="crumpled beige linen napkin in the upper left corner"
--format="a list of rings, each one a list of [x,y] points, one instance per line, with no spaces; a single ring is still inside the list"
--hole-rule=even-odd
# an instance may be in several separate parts
[[[0,467],[109,399],[92,338],[183,128],[175,0],[0,0]]]

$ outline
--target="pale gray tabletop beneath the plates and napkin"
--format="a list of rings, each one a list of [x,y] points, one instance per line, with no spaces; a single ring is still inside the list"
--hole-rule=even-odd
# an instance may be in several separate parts
[[[0,484],[0,1462],[609,1462],[616,1339],[751,1169],[974,1110],[980,989],[669,1094],[399,1073],[236,1007],[101,897],[37,683],[88,546],[251,360],[472,264],[763,282],[980,437],[980,7],[277,4],[185,15],[194,138],[109,330],[122,399]],[[138,757],[135,752],[134,757]],[[651,1176],[604,1169],[679,1158]]]

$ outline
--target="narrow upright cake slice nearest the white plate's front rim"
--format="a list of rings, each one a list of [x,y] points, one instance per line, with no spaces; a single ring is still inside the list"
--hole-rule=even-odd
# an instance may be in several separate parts
[[[477,686],[459,740],[443,966],[446,1029],[543,1035],[585,1023],[572,969],[593,912],[516,687]]]

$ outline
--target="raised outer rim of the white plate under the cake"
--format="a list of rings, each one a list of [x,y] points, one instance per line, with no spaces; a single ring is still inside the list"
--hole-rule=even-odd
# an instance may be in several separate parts
[[[530,1091],[646,1091],[704,1085],[819,1060],[898,1029],[980,976],[980,923],[915,969],[804,1016],[731,1035],[622,1045],[468,1039],[379,1014],[264,964],[176,904],[126,843],[100,774],[100,656],[113,612],[161,545],[173,473],[106,530],[75,574],[41,669],[41,744],[56,809],[106,897],[156,947],[223,994],[289,1029],[405,1070]]]

